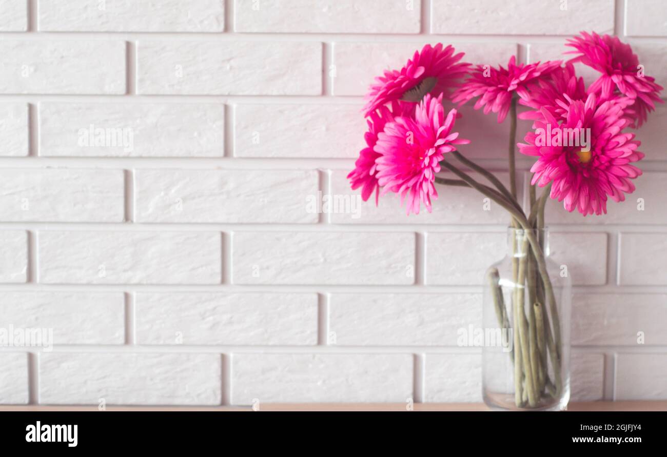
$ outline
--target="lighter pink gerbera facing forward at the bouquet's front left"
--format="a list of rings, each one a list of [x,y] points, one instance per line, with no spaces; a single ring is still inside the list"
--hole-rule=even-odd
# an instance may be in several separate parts
[[[470,143],[452,132],[455,119],[456,109],[445,117],[442,94],[438,98],[426,95],[414,116],[397,117],[378,134],[374,147],[380,154],[376,159],[378,183],[384,187],[383,195],[392,191],[400,193],[402,201],[407,197],[408,215],[410,211],[418,214],[421,202],[431,211],[431,197],[438,197],[434,181],[440,161],[456,149],[454,145]]]

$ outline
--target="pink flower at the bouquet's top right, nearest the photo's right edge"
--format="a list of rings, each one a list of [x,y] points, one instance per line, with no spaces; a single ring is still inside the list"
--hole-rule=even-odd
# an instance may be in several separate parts
[[[644,121],[648,111],[655,109],[654,101],[662,103],[659,92],[662,86],[655,83],[655,78],[645,76],[639,59],[632,52],[632,47],[622,43],[618,37],[582,32],[580,37],[568,39],[566,46],[574,47],[577,54],[571,61],[579,61],[600,71],[602,75],[588,87],[602,99],[610,99],[614,90],[634,99],[632,112],[636,126]]]

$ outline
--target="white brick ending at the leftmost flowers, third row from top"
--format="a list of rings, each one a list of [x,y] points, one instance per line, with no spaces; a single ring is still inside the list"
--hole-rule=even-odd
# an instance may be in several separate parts
[[[362,105],[236,105],[236,157],[354,158],[366,144]]]

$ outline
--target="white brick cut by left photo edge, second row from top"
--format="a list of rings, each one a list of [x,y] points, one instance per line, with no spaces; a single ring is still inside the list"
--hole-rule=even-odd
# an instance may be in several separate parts
[[[125,93],[125,41],[0,41],[0,93]]]

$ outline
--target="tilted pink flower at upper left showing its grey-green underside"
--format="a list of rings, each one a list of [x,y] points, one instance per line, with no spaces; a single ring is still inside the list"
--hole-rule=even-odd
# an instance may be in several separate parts
[[[436,97],[447,93],[448,87],[468,71],[470,63],[459,62],[463,56],[464,53],[455,55],[451,45],[443,48],[442,43],[415,51],[400,71],[385,71],[383,76],[376,77],[366,95],[366,116],[390,101],[402,99],[416,103],[426,93]]]

